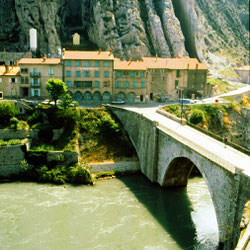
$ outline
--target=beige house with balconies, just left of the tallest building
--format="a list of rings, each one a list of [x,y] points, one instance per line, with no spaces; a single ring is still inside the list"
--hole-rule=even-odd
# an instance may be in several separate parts
[[[46,98],[46,82],[51,78],[62,80],[62,64],[59,58],[22,58],[18,65],[21,97]]]

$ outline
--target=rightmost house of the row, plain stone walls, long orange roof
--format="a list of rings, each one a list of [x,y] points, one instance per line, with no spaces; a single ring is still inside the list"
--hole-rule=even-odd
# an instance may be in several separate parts
[[[176,99],[183,90],[185,97],[211,93],[207,81],[208,68],[196,58],[143,57],[148,69],[147,94],[150,100]]]

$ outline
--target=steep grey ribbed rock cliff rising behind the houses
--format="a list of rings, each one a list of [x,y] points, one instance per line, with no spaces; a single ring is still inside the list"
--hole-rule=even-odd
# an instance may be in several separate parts
[[[38,54],[112,48],[116,56],[196,56],[237,51],[248,59],[248,0],[1,0],[0,50],[29,49],[37,29]],[[231,53],[231,52],[230,52]]]

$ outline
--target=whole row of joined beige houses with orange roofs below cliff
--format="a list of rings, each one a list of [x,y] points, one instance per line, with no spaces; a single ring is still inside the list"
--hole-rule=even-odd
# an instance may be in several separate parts
[[[0,60],[1,61],[1,60]],[[46,82],[65,82],[74,100],[147,102],[211,94],[208,68],[196,58],[115,58],[110,51],[68,51],[60,58],[22,57],[0,66],[0,92],[10,98],[48,97]],[[181,92],[180,92],[181,90]]]

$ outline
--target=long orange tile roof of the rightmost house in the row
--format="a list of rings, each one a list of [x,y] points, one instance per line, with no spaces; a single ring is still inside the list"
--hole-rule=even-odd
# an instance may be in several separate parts
[[[199,63],[196,58],[159,58],[159,57],[143,57],[149,69],[208,69],[205,63]]]

